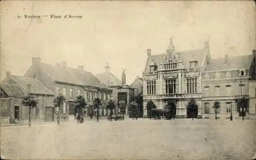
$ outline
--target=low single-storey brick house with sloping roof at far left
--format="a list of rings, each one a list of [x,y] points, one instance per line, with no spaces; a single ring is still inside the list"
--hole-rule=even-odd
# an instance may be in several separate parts
[[[11,75],[6,72],[6,78],[0,84],[1,117],[9,117],[10,123],[26,123],[29,116],[28,106],[22,104],[25,94],[32,95],[37,105],[31,111],[32,122],[54,121],[54,94],[37,79]]]

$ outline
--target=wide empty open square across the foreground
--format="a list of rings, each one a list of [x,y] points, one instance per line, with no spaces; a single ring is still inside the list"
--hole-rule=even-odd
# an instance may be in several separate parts
[[[1,128],[7,159],[246,159],[255,120],[125,119]]]

